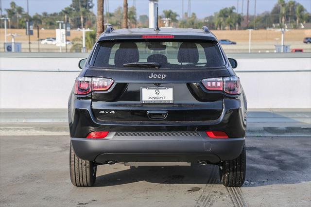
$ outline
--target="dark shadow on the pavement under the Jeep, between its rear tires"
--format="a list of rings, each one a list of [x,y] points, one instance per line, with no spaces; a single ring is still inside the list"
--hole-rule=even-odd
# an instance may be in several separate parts
[[[212,179],[211,179],[212,178]],[[159,184],[220,184],[218,166],[139,166],[100,175],[94,187],[147,181]]]

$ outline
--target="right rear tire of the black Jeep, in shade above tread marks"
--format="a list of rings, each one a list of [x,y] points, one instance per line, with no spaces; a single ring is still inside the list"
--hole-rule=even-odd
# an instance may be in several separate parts
[[[220,180],[226,187],[241,187],[245,181],[246,150],[233,160],[223,161],[219,168]]]

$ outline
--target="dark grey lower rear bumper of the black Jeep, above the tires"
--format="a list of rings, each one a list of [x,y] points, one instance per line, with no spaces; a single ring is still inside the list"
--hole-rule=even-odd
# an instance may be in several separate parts
[[[113,137],[107,139],[70,138],[81,159],[115,162],[197,162],[218,163],[238,157],[244,138],[197,137]]]

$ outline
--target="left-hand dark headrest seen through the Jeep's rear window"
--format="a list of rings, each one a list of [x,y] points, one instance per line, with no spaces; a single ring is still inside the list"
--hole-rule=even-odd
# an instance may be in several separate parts
[[[126,63],[139,61],[139,52],[136,43],[123,42],[115,53],[115,65],[120,67]]]

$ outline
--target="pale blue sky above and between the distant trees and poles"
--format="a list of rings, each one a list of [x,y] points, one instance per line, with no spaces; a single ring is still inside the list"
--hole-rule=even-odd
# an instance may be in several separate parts
[[[0,0],[2,4],[3,11],[5,8],[10,7],[10,2],[12,0]],[[106,1],[106,0],[105,0]],[[148,0],[128,0],[128,5],[132,6],[133,2],[136,2],[138,16],[142,14],[148,15]],[[287,1],[287,0],[286,0]],[[301,3],[308,12],[311,12],[311,0],[296,0]],[[26,11],[26,0],[15,0],[17,5],[24,7]],[[93,0],[95,6],[93,8],[94,13],[96,13],[96,3],[97,0]],[[122,6],[123,0],[108,0],[109,2],[109,12],[114,11],[118,6]],[[242,2],[243,11],[246,14],[246,4],[247,0],[239,0],[239,12],[242,12]],[[272,7],[276,4],[277,0],[257,0],[256,13],[262,13],[264,11],[270,11]],[[59,12],[66,6],[69,6],[71,0],[29,0],[29,13],[31,15],[42,12]],[[238,0],[191,0],[191,13],[195,12],[197,17],[203,18],[214,14],[214,12],[219,11],[224,7],[235,6],[237,7]],[[182,0],[159,0],[159,13],[164,9],[172,9],[179,15],[182,13]],[[254,14],[255,0],[250,0],[249,5],[250,15]],[[188,0],[184,0],[184,12],[187,12]],[[5,12],[4,12],[5,13]]]

